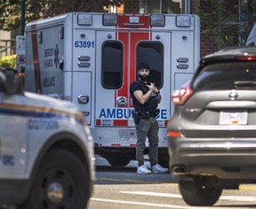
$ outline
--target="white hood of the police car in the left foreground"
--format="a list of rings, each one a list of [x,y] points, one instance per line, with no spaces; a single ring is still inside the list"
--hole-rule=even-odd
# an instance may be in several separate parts
[[[35,105],[35,106],[42,106],[45,108],[52,108],[52,109],[58,109],[65,112],[79,112],[79,108],[76,106],[76,104],[73,104],[69,101],[53,98],[53,97],[47,97],[44,95],[38,95],[35,93],[31,93],[28,91],[24,92],[25,96],[25,103],[28,105]]]

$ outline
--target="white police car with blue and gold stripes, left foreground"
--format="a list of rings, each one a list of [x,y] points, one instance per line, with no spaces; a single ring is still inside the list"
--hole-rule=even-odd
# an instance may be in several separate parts
[[[94,172],[83,113],[0,72],[0,207],[84,209]]]

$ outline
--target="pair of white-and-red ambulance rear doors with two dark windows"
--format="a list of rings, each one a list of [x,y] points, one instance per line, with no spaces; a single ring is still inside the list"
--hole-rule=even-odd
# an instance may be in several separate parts
[[[100,127],[134,127],[132,120],[132,100],[130,85],[137,78],[137,68],[147,62],[152,68],[150,74],[156,87],[164,95],[170,95],[170,55],[171,33],[157,33],[152,37],[149,30],[123,30],[115,33],[97,32],[95,125]],[[155,35],[155,34],[154,34]],[[104,38],[105,37],[105,38]],[[100,41],[101,39],[101,41]],[[154,40],[152,40],[154,39]],[[165,47],[164,47],[165,45]],[[160,126],[165,126],[170,114],[170,97],[163,97],[159,105]]]

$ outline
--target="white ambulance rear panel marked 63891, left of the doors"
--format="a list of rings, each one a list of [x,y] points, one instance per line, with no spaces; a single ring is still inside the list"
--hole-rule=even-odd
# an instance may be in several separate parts
[[[73,66],[72,71],[67,69],[65,72],[66,86],[67,89],[71,86],[71,101],[84,113],[87,124],[91,125],[92,76],[95,67],[95,32],[86,27],[75,27],[73,38]],[[68,84],[69,78],[72,78],[70,85]]]

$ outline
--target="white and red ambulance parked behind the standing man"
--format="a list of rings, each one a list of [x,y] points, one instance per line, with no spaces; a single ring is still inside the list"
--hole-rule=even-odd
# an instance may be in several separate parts
[[[163,96],[157,116],[161,164],[169,159],[171,92],[192,77],[199,58],[195,14],[71,12],[26,26],[25,89],[77,104],[95,154],[126,166],[135,159],[137,140],[130,85],[140,63],[147,63]]]

